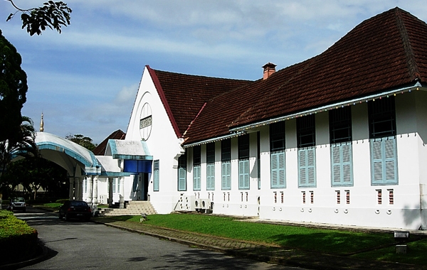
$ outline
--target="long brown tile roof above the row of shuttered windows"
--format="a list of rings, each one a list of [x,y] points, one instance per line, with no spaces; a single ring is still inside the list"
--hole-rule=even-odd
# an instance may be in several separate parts
[[[427,24],[391,9],[360,23],[314,58],[214,97],[187,131],[184,144],[416,81],[427,82]]]

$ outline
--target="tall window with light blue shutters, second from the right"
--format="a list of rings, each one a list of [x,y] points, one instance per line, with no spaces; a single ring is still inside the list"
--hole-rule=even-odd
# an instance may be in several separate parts
[[[332,186],[353,185],[352,110],[332,109],[329,120]]]

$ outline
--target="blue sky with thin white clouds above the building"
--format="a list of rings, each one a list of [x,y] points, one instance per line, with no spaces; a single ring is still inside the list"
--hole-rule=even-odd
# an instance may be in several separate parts
[[[126,132],[144,65],[193,75],[257,80],[318,55],[357,24],[399,6],[427,21],[425,0],[70,0],[63,33],[29,36],[0,0],[0,29],[28,76],[22,114],[36,129],[83,134],[98,144]],[[41,0],[15,0],[23,9]]]

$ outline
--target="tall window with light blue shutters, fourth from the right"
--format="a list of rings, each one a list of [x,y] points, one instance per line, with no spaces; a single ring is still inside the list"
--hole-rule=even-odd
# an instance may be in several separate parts
[[[286,188],[285,122],[270,124],[271,188]]]

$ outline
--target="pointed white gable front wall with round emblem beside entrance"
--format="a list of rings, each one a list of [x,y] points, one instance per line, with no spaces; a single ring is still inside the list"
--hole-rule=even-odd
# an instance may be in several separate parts
[[[147,139],[149,152],[153,160],[159,160],[159,191],[153,191],[153,175],[149,175],[149,196],[158,213],[169,213],[179,198],[177,191],[177,157],[184,152],[177,139],[173,126],[167,116],[162,100],[157,94],[147,68],[144,69],[134,108],[127,128],[127,140],[141,140],[139,120],[142,107],[148,103],[152,109],[152,129]],[[130,200],[133,178],[125,178],[125,200]]]

